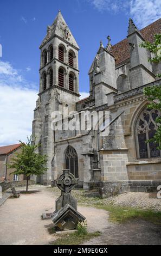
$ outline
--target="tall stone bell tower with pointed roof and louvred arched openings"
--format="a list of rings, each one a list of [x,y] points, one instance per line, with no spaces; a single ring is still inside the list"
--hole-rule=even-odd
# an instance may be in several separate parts
[[[51,162],[54,157],[54,132],[51,130],[51,113],[68,106],[75,111],[79,101],[79,46],[63,19],[61,11],[41,45],[40,90],[34,109],[33,141],[40,143],[40,153],[48,155],[48,170],[39,182],[50,184],[53,174]]]

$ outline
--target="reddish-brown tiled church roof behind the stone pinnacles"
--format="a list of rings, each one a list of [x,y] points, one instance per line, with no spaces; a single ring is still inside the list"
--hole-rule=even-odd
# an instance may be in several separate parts
[[[161,33],[161,19],[154,21],[149,26],[141,29],[140,32],[145,41],[153,42],[154,34]],[[116,59],[116,65],[130,58],[130,46],[128,45],[128,40],[124,39],[113,45],[111,47],[111,52]]]

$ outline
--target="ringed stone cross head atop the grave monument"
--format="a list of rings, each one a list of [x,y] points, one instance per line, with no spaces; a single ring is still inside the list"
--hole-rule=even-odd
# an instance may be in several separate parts
[[[78,184],[78,179],[69,170],[63,170],[63,174],[56,180],[57,187],[64,193],[69,193],[76,184]]]

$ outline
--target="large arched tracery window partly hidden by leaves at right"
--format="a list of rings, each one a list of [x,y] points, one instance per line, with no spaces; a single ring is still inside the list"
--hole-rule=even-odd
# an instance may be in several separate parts
[[[146,142],[153,138],[157,130],[156,118],[160,117],[160,111],[146,108],[136,123],[136,147],[137,157],[140,159],[148,157],[160,157],[160,150],[157,149],[158,144]]]

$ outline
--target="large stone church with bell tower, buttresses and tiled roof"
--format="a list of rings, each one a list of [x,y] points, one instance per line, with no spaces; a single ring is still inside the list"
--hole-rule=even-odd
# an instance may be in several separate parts
[[[130,19],[126,39],[112,46],[108,36],[106,47],[100,41],[88,73],[89,97],[80,100],[79,46],[59,11],[40,46],[33,140],[48,155],[48,171],[37,182],[50,184],[62,169],[70,169],[85,189],[147,191],[160,184],[161,152],[146,140],[153,137],[161,113],[147,108],[143,89],[160,84],[156,74],[161,65],[148,62],[151,53],[139,47],[160,31],[161,19],[140,31]],[[78,114],[110,111],[110,133],[101,137],[93,129],[53,131],[51,113],[61,107]]]

